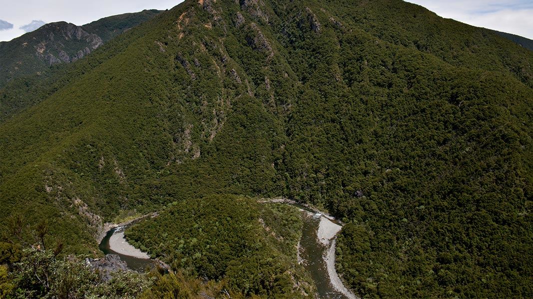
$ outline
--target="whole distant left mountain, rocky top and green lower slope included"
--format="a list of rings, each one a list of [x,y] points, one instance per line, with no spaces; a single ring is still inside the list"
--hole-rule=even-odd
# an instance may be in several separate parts
[[[160,12],[144,10],[108,16],[84,26],[66,22],[50,23],[1,43],[0,121],[41,102],[65,82],[76,80],[78,74],[90,71],[93,65],[110,55],[109,52],[120,51],[120,48],[104,51],[106,54],[103,58],[100,55],[100,59],[92,60],[90,64],[83,62],[70,67],[68,62],[86,57],[110,39]]]

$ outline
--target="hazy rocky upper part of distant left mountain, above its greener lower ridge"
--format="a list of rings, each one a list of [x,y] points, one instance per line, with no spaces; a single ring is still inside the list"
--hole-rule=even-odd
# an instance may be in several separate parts
[[[41,74],[51,65],[77,61],[158,13],[145,10],[109,16],[84,26],[54,22],[11,41],[2,41],[0,87],[13,78]]]

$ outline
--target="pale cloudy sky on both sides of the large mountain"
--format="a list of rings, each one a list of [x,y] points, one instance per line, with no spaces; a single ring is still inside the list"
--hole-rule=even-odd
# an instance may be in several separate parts
[[[144,9],[171,9],[182,0],[0,0],[0,40],[11,40],[25,33],[20,29],[39,21],[67,21],[83,25],[104,16]],[[533,39],[533,0],[409,0],[445,18],[474,26],[518,34]],[[0,22],[0,25],[2,22]]]

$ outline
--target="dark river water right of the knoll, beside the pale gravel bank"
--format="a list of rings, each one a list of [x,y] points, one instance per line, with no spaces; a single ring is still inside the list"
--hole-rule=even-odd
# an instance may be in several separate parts
[[[318,296],[323,299],[348,298],[344,294],[338,292],[330,284],[326,262],[324,261],[324,258],[322,258],[322,256],[326,255],[329,246],[324,246],[317,239],[317,231],[321,215],[317,215],[315,212],[302,205],[290,205],[312,213],[305,215],[303,219],[302,238],[300,239],[300,258],[303,260],[304,268],[311,273],[311,278],[317,286]]]

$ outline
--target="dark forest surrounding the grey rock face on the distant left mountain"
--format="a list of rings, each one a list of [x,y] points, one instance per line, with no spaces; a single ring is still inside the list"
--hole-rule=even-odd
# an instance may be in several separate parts
[[[91,59],[86,59],[87,56],[84,56],[84,59],[77,60],[75,65],[70,63],[53,63],[50,65],[45,63],[42,57],[35,56],[35,46],[37,44],[35,40],[45,40],[43,43],[49,47],[47,51],[51,51],[50,48],[52,48],[52,52],[55,54],[60,49],[68,51],[72,55],[83,47],[88,46],[87,41],[83,39],[61,43],[61,38],[66,38],[61,35],[68,33],[65,32],[68,31],[67,29],[72,29],[72,26],[65,22],[47,24],[47,26],[20,38],[0,43],[0,55],[2,57],[2,78],[0,78],[2,110],[0,110],[0,122],[40,103],[63,86],[78,80],[84,73],[90,72],[110,57],[123,51],[124,47],[129,44],[126,40],[131,41],[132,37],[130,34],[125,34],[129,38],[120,35],[128,28],[146,22],[159,13],[160,11],[157,10],[149,10],[114,15],[79,27],[91,32],[91,35],[98,34],[98,38],[101,39],[102,43],[117,39],[117,44],[122,45],[113,47],[107,47],[105,44],[101,45],[99,46],[103,47],[101,51],[96,51],[96,54],[94,51],[90,53]],[[50,39],[50,35],[53,35],[54,32],[55,35],[59,34],[59,37],[55,38],[55,40],[46,41]],[[118,43],[118,40],[123,38],[125,41]],[[29,46],[24,46],[25,43]],[[66,49],[66,47],[70,47],[70,49]],[[21,66],[17,63],[18,61],[24,61],[25,64]],[[13,68],[18,68],[18,70],[16,72],[10,71]]]

